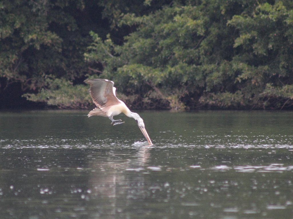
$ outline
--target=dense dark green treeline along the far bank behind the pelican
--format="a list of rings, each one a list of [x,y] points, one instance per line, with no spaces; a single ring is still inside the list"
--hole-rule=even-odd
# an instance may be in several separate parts
[[[3,0],[0,108],[293,109],[292,0]]]

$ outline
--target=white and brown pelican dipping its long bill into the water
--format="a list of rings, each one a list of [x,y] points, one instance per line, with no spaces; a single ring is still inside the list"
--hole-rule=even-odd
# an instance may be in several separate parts
[[[115,126],[124,122],[121,119],[113,119],[113,116],[123,112],[126,116],[135,119],[138,127],[144,134],[144,137],[147,139],[148,144],[153,144],[146,129],[144,128],[144,121],[142,118],[140,118],[137,113],[131,112],[125,103],[116,97],[116,88],[113,87],[113,81],[107,79],[87,79],[84,82],[91,85],[88,92],[91,94],[91,98],[93,99],[94,104],[97,106],[88,113],[88,117],[108,117],[112,121],[111,125],[113,124]]]

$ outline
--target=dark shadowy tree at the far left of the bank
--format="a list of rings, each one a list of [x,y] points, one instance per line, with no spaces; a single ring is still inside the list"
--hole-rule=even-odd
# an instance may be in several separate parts
[[[108,32],[107,22],[96,16],[101,10],[89,0],[1,1],[0,95],[16,83],[22,92],[47,89],[48,76],[83,80],[89,72],[83,56],[89,31]]]

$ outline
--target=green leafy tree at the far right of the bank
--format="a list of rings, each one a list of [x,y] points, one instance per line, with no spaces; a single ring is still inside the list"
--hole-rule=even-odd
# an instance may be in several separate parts
[[[231,62],[254,107],[293,105],[293,2],[263,1],[228,22],[239,30]]]

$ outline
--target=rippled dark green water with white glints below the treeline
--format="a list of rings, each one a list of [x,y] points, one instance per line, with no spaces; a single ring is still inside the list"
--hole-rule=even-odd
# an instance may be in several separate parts
[[[0,113],[0,218],[292,218],[293,112]]]

